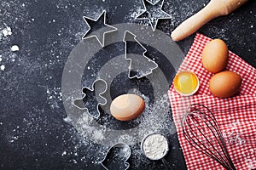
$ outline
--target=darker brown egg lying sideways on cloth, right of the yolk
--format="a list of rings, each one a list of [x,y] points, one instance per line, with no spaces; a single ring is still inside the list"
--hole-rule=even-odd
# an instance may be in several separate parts
[[[240,86],[241,77],[233,71],[219,72],[209,82],[210,91],[219,98],[228,98],[236,94]]]

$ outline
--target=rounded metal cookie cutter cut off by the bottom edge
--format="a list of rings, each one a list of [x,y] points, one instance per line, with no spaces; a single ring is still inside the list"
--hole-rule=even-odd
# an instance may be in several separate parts
[[[100,163],[107,170],[112,169],[111,167],[119,167],[119,169],[126,170],[130,167],[130,164],[127,162],[130,156],[130,146],[125,143],[117,143],[110,147]]]

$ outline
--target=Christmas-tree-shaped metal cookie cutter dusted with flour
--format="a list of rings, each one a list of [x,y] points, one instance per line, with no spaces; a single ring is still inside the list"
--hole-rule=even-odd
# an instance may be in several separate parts
[[[146,77],[149,74],[152,73],[152,71],[156,68],[158,68],[158,64],[154,62],[152,59],[148,59],[148,57],[145,55],[147,53],[147,49],[143,47],[143,45],[137,41],[136,35],[131,33],[131,31],[125,31],[125,35],[123,38],[123,42],[125,42],[125,59],[130,60],[130,65],[129,65],[129,74],[128,77],[134,78],[141,78],[141,77]],[[128,54],[128,48],[127,48],[127,43],[128,42],[137,42],[136,45],[136,51],[141,52],[143,55],[143,58],[141,55],[138,54]],[[128,57],[129,56],[129,57]],[[133,68],[136,67],[137,69]],[[137,74],[135,76],[131,76],[131,69],[136,70]]]

